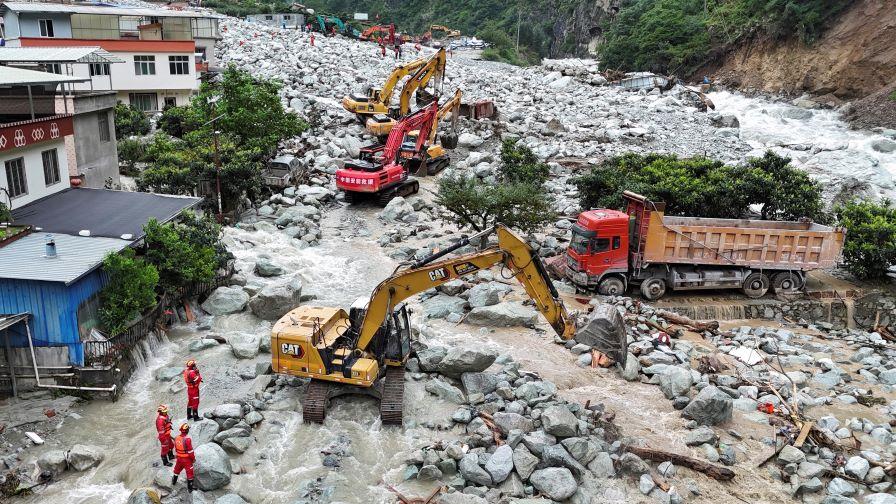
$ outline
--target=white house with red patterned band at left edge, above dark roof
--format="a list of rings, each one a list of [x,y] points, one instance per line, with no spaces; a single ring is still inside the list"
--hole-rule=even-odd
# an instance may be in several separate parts
[[[5,67],[0,71],[0,201],[10,208],[70,187],[72,111],[56,109],[57,87],[78,77]],[[72,151],[73,152],[73,151]]]

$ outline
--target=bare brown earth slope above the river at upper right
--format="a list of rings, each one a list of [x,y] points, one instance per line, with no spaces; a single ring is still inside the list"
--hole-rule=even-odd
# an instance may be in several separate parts
[[[756,41],[705,72],[744,90],[862,98],[896,75],[896,1],[856,1],[812,46]]]

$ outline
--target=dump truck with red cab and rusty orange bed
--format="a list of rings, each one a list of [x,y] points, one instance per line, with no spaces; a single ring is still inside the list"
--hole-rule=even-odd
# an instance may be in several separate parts
[[[566,277],[604,295],[639,285],[648,300],[667,290],[742,289],[751,298],[793,293],[806,273],[831,268],[843,228],[805,222],[665,215],[665,203],[629,191],[625,211],[588,210],[572,226]]]

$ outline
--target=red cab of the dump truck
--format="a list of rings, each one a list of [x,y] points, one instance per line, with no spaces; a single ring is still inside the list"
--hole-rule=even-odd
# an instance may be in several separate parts
[[[628,287],[629,215],[618,210],[588,210],[572,226],[566,252],[568,277],[605,295]]]

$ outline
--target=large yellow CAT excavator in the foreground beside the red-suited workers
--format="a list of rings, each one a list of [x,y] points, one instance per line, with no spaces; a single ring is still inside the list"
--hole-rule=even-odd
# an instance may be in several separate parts
[[[492,232],[497,232],[497,245],[440,260]],[[417,262],[399,266],[373,290],[370,299],[356,301],[348,312],[300,306],[274,324],[274,372],[311,378],[302,412],[304,421],[322,423],[334,397],[365,394],[380,401],[384,424],[401,425],[404,365],[411,343],[408,310],[403,301],[498,264],[523,285],[536,309],[561,338],[573,337],[575,321],[566,311],[541,259],[519,236],[497,225]],[[620,348],[626,348],[624,343]]]

